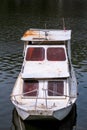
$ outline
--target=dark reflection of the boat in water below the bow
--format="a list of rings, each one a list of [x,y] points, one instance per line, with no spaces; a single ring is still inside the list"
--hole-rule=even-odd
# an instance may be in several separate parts
[[[25,120],[23,121],[14,108],[11,130],[74,130],[76,126],[76,104],[69,115],[62,121],[58,120]]]

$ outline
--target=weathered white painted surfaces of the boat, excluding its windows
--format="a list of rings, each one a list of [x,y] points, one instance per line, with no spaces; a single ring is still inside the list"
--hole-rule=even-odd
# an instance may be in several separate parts
[[[46,34],[47,33],[47,34]],[[46,34],[46,35],[45,35]],[[42,38],[42,39],[41,39]],[[38,30],[30,29],[27,31],[21,40],[24,41],[65,41],[67,40],[67,47],[70,49],[71,30]],[[30,45],[26,44],[26,49]],[[31,45],[32,46],[32,45]],[[33,45],[34,46],[34,45]],[[35,45],[39,47],[39,45]],[[43,45],[47,48],[50,45]],[[55,46],[55,45],[54,45]],[[60,46],[60,45],[56,45]],[[55,47],[56,47],[55,46]],[[65,49],[66,46],[61,45]],[[71,65],[71,55],[68,50],[68,57],[65,61],[26,61],[24,57],[22,72],[20,72],[16,84],[14,85],[11,101],[17,109],[19,116],[25,120],[30,115],[40,118],[55,117],[62,120],[70,112],[73,104],[77,99],[77,82],[74,69]],[[39,94],[34,97],[23,96],[23,78],[38,78],[39,80]],[[46,79],[45,79],[46,78]],[[47,81],[64,80],[64,95],[63,96],[48,96],[47,95]]]

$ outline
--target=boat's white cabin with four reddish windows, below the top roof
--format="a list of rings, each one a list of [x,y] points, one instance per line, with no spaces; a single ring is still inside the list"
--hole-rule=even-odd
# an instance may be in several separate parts
[[[28,37],[24,40],[23,96],[65,98],[70,76],[69,41],[35,37],[32,41]]]

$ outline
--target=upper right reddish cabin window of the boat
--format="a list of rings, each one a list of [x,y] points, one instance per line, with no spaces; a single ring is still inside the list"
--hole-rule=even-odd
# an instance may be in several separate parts
[[[48,48],[47,49],[47,60],[49,61],[65,61],[65,50],[62,47]]]

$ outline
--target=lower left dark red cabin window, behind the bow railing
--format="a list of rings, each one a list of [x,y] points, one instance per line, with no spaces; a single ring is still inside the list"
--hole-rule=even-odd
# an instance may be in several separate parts
[[[24,96],[37,96],[39,83],[37,80],[27,80],[23,84]]]

